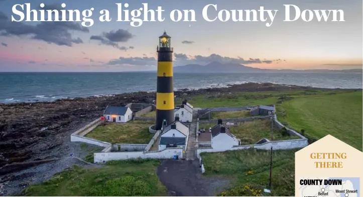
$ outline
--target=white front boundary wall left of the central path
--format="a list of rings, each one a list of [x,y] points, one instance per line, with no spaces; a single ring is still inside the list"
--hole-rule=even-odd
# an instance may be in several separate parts
[[[166,148],[162,151],[127,151],[127,152],[100,152],[94,153],[94,163],[102,163],[111,160],[126,160],[126,159],[172,159],[174,155],[183,156],[182,148]]]

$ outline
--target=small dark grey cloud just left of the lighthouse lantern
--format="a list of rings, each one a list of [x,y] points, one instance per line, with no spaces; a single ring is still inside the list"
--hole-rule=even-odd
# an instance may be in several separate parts
[[[129,31],[118,29],[116,31],[104,32],[100,36],[91,36],[89,39],[98,40],[103,45],[108,45],[117,48],[119,50],[127,51],[129,49],[134,49],[135,47],[119,46],[118,42],[127,42],[132,38],[134,38],[134,35],[132,35]]]

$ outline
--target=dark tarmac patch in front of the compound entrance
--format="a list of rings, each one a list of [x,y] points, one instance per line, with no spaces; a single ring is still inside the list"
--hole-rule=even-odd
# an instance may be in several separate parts
[[[165,160],[157,174],[170,196],[215,196],[229,185],[225,178],[203,177],[198,160]]]

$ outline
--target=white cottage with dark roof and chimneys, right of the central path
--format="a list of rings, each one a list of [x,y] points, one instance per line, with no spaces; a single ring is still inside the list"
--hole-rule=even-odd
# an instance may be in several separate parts
[[[230,150],[233,146],[239,145],[240,139],[229,132],[222,120],[218,120],[218,124],[211,128],[211,146],[214,150]]]

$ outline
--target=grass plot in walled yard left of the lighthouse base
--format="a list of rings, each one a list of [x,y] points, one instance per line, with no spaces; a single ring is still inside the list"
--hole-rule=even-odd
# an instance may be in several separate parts
[[[122,144],[148,144],[153,134],[149,133],[152,122],[130,121],[127,123],[107,123],[89,132],[86,137]]]

